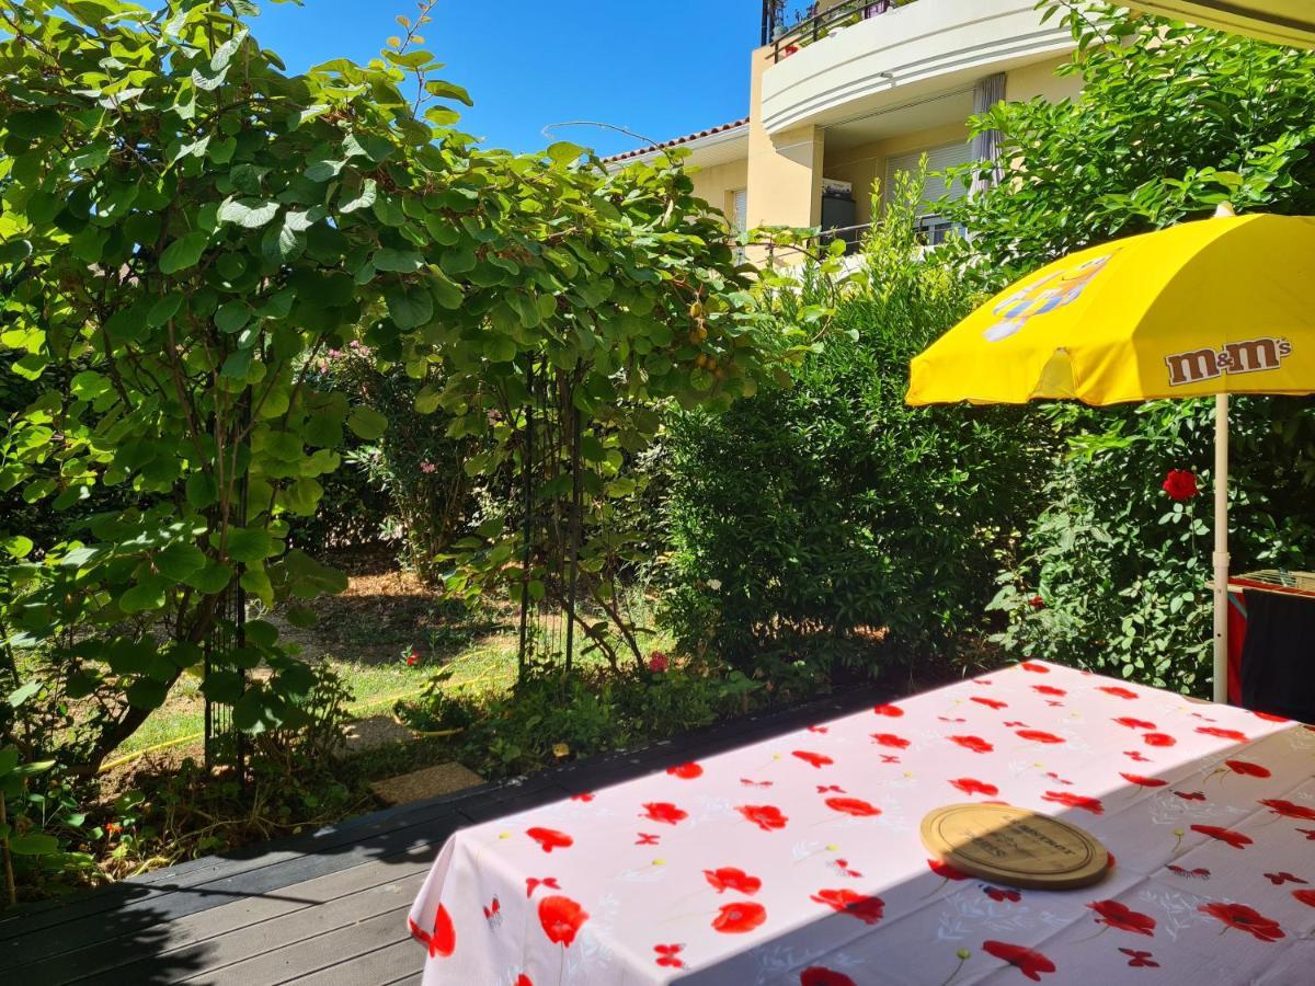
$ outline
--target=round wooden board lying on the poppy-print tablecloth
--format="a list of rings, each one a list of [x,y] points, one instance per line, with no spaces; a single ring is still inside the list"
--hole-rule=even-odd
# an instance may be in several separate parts
[[[1099,882],[1110,855],[1089,832],[1013,805],[948,805],[922,820],[942,862],[992,883],[1068,890]]]

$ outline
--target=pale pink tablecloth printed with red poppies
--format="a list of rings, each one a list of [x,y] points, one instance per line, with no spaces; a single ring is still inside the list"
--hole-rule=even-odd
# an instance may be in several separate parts
[[[464,830],[425,982],[1315,982],[1315,731],[1026,663]],[[932,864],[1002,801],[1110,849],[1084,890]]]

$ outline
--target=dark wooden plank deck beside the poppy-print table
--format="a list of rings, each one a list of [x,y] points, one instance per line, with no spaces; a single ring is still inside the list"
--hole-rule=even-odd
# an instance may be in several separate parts
[[[458,828],[877,701],[885,695],[861,689],[45,902],[0,919],[0,982],[418,982],[423,952],[408,937],[406,911],[439,847]]]

